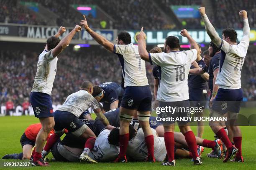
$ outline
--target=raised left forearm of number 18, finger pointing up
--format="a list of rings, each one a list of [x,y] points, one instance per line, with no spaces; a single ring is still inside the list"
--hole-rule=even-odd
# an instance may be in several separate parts
[[[146,34],[143,32],[143,27],[141,28],[141,32],[136,35],[136,39],[138,41],[138,52],[141,59],[149,62],[149,56],[146,49]]]

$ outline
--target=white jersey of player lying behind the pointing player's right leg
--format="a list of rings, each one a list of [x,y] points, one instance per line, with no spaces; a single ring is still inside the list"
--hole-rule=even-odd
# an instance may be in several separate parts
[[[166,157],[166,148],[164,138],[157,137],[156,130],[151,128],[154,135],[154,157],[156,161],[164,161]],[[145,142],[145,137],[142,128],[139,128],[136,136],[129,140],[127,147],[127,155],[136,161],[144,161],[148,158],[148,148]]]

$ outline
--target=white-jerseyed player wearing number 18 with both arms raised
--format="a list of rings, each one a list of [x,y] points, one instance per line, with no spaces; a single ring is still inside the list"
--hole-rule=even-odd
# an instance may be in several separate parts
[[[189,92],[188,92],[188,75],[189,68],[193,61],[196,60],[200,49],[188,34],[187,30],[182,30],[181,35],[187,37],[191,47],[195,49],[187,51],[179,51],[179,39],[175,36],[166,37],[164,43],[164,52],[148,53],[146,50],[146,35],[141,28],[141,32],[136,36],[138,40],[138,51],[143,60],[151,62],[161,67],[161,83],[157,91],[157,100],[159,100],[159,107],[189,107]],[[188,117],[189,112],[168,112],[161,111],[161,117],[172,117],[169,122],[164,124],[164,140],[168,155],[168,161],[162,165],[175,166],[174,160],[174,127],[176,118]],[[190,151],[192,152],[194,164],[201,165],[201,159],[197,153],[197,143],[195,135],[188,125],[188,121],[178,121],[179,129],[185,136]]]

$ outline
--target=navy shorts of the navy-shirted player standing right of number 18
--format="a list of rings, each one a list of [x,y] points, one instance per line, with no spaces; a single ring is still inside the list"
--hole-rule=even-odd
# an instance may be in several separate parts
[[[189,101],[191,107],[205,107],[206,96],[203,93],[203,90],[189,90]]]

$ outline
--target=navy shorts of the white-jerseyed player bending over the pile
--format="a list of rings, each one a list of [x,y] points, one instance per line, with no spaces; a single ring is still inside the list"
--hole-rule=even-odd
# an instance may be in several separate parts
[[[65,128],[72,133],[84,125],[82,120],[79,120],[78,117],[73,115],[71,112],[60,110],[56,110],[54,112],[54,121],[54,130],[56,132],[59,132]]]

